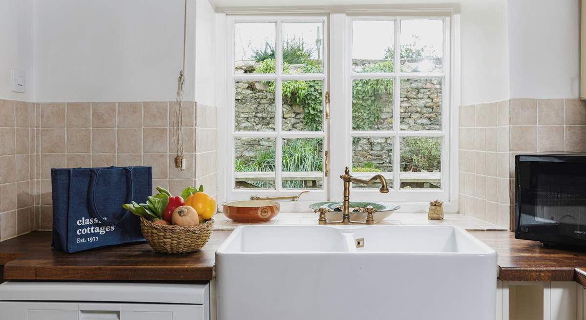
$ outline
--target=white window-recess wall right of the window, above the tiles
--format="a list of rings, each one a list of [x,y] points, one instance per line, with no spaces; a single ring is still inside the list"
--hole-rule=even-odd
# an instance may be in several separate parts
[[[506,0],[461,1],[461,104],[506,100],[509,42]]]

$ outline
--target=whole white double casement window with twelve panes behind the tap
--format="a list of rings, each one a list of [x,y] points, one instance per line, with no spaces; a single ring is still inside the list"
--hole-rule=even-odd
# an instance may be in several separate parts
[[[227,15],[220,200],[454,200],[449,14]],[[455,170],[454,170],[455,171]]]

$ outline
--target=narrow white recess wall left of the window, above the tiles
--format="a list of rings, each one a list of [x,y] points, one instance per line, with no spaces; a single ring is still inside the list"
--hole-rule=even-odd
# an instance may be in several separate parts
[[[195,101],[216,105],[216,12],[207,0],[196,6]]]

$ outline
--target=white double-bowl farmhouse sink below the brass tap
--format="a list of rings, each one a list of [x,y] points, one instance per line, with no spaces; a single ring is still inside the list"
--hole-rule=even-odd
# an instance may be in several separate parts
[[[458,227],[240,226],[216,271],[219,320],[495,319],[496,252]]]

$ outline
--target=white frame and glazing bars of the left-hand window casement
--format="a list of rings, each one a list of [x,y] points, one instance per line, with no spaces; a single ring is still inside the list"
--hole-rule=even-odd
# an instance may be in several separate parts
[[[227,137],[227,157],[234,159],[234,138],[244,137],[270,137],[275,138],[275,189],[236,189],[234,183],[236,181],[236,172],[234,172],[234,165],[231,168],[226,168],[229,183],[226,183],[226,199],[227,200],[241,200],[248,199],[251,196],[275,197],[275,196],[295,196],[299,192],[308,190],[309,193],[303,196],[304,200],[322,201],[328,198],[329,179],[322,171],[322,189],[284,189],[281,188],[281,144],[282,138],[321,138],[323,141],[322,156],[325,159],[324,151],[328,150],[328,121],[325,120],[325,108],[322,110],[323,126],[322,131],[281,131],[282,122],[282,93],[281,83],[286,80],[320,80],[323,81],[322,101],[325,101],[325,93],[328,90],[328,70],[329,70],[329,51],[328,51],[328,16],[327,15],[246,15],[246,16],[229,16],[228,17],[228,33],[227,33],[227,107],[228,115],[227,123],[229,132]],[[234,59],[234,30],[236,23],[253,23],[253,22],[272,22],[275,23],[276,39],[275,39],[275,74],[236,74],[234,73],[235,59]],[[323,23],[322,38],[324,45],[322,64],[323,73],[321,74],[283,74],[282,73],[282,23],[302,23],[302,22],[320,22]],[[236,131],[234,130],[234,83],[236,81],[261,81],[269,80],[275,81],[275,131],[274,132],[250,132],[250,131]],[[229,166],[229,165],[228,165]],[[325,166],[323,167],[325,169]]]

